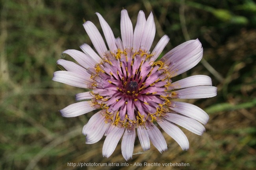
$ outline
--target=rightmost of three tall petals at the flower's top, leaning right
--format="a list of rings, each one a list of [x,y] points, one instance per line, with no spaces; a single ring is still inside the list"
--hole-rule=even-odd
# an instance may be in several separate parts
[[[143,35],[141,38],[141,49],[149,51],[152,46],[156,34],[156,26],[152,12],[148,16],[147,22],[144,27]]]

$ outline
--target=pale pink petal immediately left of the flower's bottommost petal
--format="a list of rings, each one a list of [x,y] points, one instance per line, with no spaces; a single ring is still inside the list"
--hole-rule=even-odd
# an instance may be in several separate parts
[[[114,125],[111,125],[114,126]],[[113,154],[115,148],[117,147],[117,143],[122,137],[122,134],[124,133],[124,128],[119,128],[117,126],[114,126],[111,131],[108,133],[104,144],[102,148],[102,154],[104,157],[109,157],[111,154]]]

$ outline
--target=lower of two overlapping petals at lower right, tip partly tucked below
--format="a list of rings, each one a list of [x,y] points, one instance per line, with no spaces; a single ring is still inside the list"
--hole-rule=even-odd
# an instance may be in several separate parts
[[[182,126],[197,135],[202,135],[205,132],[205,128],[201,123],[195,119],[183,115],[178,115],[176,113],[166,113],[165,119],[178,124],[179,126]]]

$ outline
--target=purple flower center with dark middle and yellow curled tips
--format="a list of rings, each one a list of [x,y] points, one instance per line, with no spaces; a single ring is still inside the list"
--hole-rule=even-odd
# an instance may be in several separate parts
[[[132,49],[106,53],[95,68],[88,68],[93,83],[95,108],[101,108],[106,123],[133,129],[157,121],[167,112],[170,84],[163,62],[150,61],[152,55]]]

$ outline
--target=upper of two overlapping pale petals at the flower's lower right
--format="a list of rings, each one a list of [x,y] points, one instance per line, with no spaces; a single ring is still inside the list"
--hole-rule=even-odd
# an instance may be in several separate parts
[[[191,117],[201,122],[202,124],[206,124],[209,120],[209,115],[206,112],[204,112],[201,108],[193,104],[172,101],[170,108],[171,110],[178,112],[182,115],[185,115],[187,117]]]

